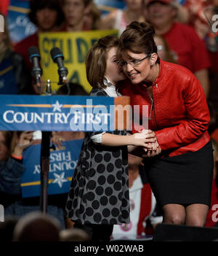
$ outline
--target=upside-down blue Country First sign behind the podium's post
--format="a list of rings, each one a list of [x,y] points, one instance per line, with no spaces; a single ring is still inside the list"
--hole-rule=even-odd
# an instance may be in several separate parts
[[[70,181],[78,161],[83,139],[63,141],[61,150],[50,150],[48,195],[68,193]],[[23,198],[40,195],[41,144],[28,147],[23,152],[23,165],[25,172],[21,179],[21,192]]]

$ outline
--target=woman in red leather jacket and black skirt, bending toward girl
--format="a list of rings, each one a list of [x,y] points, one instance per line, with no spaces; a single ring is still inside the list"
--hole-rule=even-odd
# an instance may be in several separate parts
[[[213,152],[209,109],[200,82],[185,67],[161,61],[148,23],[133,22],[121,34],[118,58],[128,77],[121,94],[148,105],[148,128],[162,152],[145,159],[145,171],[163,210],[163,222],[203,226],[211,203]],[[201,56],[199,56],[201,61]],[[134,123],[132,132],[140,130]]]

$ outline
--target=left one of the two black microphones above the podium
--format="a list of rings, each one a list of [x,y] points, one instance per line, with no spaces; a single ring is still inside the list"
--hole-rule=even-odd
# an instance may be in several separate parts
[[[39,66],[39,60],[40,60],[40,55],[39,55],[39,50],[35,46],[31,46],[28,48],[28,55],[31,63],[33,63],[33,70],[32,70],[32,75],[35,79],[36,84],[38,83],[38,87],[40,86],[40,77],[42,74],[41,67]]]

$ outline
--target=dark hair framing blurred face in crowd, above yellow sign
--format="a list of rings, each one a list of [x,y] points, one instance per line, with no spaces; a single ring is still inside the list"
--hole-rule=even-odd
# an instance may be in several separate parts
[[[57,11],[58,15],[56,25],[59,26],[64,20],[64,15],[59,0],[30,0],[29,8],[30,12],[28,13],[28,17],[36,26],[36,12],[44,8],[54,9]]]

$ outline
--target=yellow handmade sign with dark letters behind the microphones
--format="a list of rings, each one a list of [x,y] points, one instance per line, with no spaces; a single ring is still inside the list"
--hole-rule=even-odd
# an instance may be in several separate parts
[[[91,86],[86,79],[85,59],[89,49],[102,36],[118,36],[117,30],[80,31],[80,32],[52,32],[39,34],[39,50],[41,54],[41,68],[43,79],[52,82],[52,91],[60,88],[57,63],[52,61],[50,50],[59,47],[65,59],[64,65],[68,68],[68,81],[83,85],[89,92]]]

